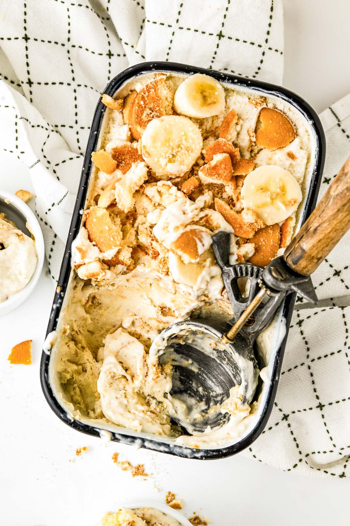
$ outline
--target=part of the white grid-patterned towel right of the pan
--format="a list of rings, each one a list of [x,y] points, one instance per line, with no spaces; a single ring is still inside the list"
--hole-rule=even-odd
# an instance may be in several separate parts
[[[350,156],[350,95],[321,115],[319,200]],[[297,296],[269,422],[242,452],[307,476],[350,479],[350,231],[312,275],[320,305]]]

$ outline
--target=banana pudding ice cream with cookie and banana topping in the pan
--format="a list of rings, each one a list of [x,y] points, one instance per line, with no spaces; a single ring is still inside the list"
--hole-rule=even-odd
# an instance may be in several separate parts
[[[228,431],[184,441],[172,420],[172,366],[160,365],[152,343],[190,316],[232,318],[216,232],[230,234],[232,265],[263,267],[283,254],[312,171],[310,128],[277,97],[201,74],[138,77],[102,102],[58,324],[62,396],[93,425],[217,447],[245,431],[259,401],[252,393],[242,408],[236,386],[221,407]]]

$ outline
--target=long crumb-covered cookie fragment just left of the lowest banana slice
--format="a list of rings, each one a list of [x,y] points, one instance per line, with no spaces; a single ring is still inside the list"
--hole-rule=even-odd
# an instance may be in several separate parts
[[[215,198],[214,203],[216,210],[235,230],[236,236],[251,238],[259,228],[264,226],[261,219],[259,219],[253,210],[245,209],[241,214],[237,214],[235,210],[232,210],[225,201],[221,201],[221,199]]]

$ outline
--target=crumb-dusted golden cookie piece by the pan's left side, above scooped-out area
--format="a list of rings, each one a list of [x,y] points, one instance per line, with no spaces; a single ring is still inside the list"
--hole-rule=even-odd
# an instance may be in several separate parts
[[[85,214],[85,227],[89,234],[89,240],[101,252],[121,246],[122,232],[119,226],[114,224],[114,217],[109,214],[108,210],[99,206],[92,206]]]

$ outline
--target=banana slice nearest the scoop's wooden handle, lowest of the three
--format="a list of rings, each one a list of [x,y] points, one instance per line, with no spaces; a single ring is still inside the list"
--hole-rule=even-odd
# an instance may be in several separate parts
[[[298,181],[280,166],[260,166],[247,175],[241,189],[243,207],[254,210],[265,225],[284,221],[302,199]]]

